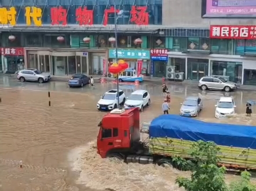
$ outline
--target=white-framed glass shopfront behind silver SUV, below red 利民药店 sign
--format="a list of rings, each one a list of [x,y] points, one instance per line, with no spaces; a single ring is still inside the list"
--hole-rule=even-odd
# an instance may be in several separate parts
[[[253,74],[251,77],[247,75],[247,73],[250,73],[248,71],[252,69],[253,65],[251,63],[256,63],[256,60],[251,60],[252,58],[220,54],[193,57],[183,53],[169,52],[168,54],[169,65],[175,66],[175,73],[177,73],[177,70],[185,72],[185,80],[199,81],[203,76],[225,76],[229,81],[238,84],[246,84],[246,81],[249,84],[253,84]]]

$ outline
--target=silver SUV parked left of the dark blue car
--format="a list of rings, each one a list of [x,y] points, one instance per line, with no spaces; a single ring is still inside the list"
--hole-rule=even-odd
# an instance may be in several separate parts
[[[42,73],[36,69],[24,69],[17,73],[17,79],[21,82],[38,81],[39,83],[44,83],[50,80],[50,74]]]

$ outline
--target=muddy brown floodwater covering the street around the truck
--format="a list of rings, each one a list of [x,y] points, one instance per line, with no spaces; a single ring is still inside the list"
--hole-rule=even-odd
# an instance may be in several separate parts
[[[97,124],[105,113],[96,110],[98,98],[92,93],[52,92],[51,107],[42,91],[1,89],[0,97],[0,190],[182,190],[174,180],[188,173],[97,155]],[[141,122],[162,113],[163,98],[151,99]],[[182,99],[172,96],[171,113],[178,114]],[[256,125],[254,115],[244,115],[244,106],[237,107],[233,118],[214,119],[215,102],[204,100],[207,107],[199,119]]]

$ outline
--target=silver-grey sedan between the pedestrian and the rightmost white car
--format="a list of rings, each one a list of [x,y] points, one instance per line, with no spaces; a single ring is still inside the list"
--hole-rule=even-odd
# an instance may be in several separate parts
[[[202,99],[198,96],[189,96],[181,103],[180,115],[184,117],[198,117],[203,110]]]

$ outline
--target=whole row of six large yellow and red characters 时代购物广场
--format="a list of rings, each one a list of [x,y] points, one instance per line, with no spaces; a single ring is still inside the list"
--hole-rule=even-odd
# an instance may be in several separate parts
[[[116,9],[116,13],[119,13],[119,9]],[[114,6],[109,9],[104,10],[103,25],[108,24],[109,14],[115,12]],[[50,8],[50,18],[52,25],[67,25],[68,20],[68,10],[61,6]],[[15,26],[17,23],[17,16],[19,11],[16,8],[0,8],[0,24]],[[36,8],[35,6],[25,7],[25,23],[30,25],[35,25],[37,27],[42,26],[42,16],[43,10],[41,8]],[[72,15],[73,16],[73,15]],[[78,7],[75,10],[76,22],[79,25],[93,25],[93,10],[88,10],[86,6]],[[148,25],[149,24],[149,14],[147,12],[147,6],[131,6],[130,11],[130,22],[136,25]]]

